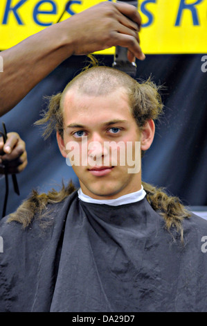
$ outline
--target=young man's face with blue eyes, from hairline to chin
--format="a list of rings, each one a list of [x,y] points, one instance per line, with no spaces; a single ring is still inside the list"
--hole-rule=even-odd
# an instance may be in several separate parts
[[[79,151],[80,164],[72,166],[84,194],[97,199],[113,199],[141,189],[140,169],[129,173],[135,156],[136,160],[141,160],[140,148],[137,152],[136,147],[140,144],[141,132],[132,117],[124,89],[105,96],[88,96],[70,89],[63,101],[63,118],[62,146],[69,155],[74,149],[70,144],[78,145],[76,152]],[[128,151],[127,142],[132,146]],[[115,149],[109,144],[114,144],[112,148]],[[127,160],[127,155],[131,161],[129,157]]]

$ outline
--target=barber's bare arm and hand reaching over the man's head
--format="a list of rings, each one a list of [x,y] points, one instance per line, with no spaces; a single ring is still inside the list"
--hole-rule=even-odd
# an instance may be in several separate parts
[[[130,61],[143,60],[140,28],[141,16],[134,6],[102,2],[2,51],[0,117],[71,55],[119,45],[127,47]]]

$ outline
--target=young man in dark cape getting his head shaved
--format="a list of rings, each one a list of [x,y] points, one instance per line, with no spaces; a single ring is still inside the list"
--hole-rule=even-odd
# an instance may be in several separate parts
[[[39,123],[80,189],[34,191],[1,223],[1,311],[207,311],[206,221],[136,166],[161,110],[153,83],[108,67],[51,98]]]

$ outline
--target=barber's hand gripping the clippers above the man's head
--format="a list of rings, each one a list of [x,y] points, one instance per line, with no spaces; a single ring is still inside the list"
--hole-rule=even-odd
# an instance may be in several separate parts
[[[60,23],[73,39],[73,54],[86,55],[111,46],[128,49],[128,59],[143,60],[138,32],[141,16],[135,6],[128,3],[102,2]],[[65,33],[64,33],[65,35]]]

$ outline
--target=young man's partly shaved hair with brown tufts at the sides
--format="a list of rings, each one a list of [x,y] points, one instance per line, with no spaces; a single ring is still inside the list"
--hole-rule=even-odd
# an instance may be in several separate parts
[[[132,109],[132,116],[139,128],[144,126],[149,119],[158,119],[162,112],[161,96],[158,87],[150,80],[145,83],[138,83],[134,78],[118,69],[99,66],[82,71],[71,80],[62,93],[51,96],[48,111],[36,124],[47,123],[44,137],[51,135],[53,130],[63,135],[63,106],[64,98],[68,92],[86,94],[87,96],[105,96],[123,88],[129,98],[129,107]]]

